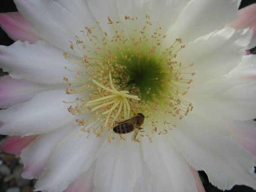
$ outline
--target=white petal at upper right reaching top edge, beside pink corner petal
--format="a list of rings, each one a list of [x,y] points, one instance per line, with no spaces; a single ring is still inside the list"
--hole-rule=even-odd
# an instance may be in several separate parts
[[[211,31],[222,29],[237,18],[240,2],[241,0],[191,0],[170,28],[170,42],[175,38],[182,38],[186,44]]]

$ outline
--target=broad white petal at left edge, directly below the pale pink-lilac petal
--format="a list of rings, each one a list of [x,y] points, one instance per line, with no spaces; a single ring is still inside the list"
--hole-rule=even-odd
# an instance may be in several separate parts
[[[0,133],[3,135],[30,136],[53,131],[74,119],[68,112],[75,95],[65,90],[52,90],[37,94],[26,103],[0,110]]]

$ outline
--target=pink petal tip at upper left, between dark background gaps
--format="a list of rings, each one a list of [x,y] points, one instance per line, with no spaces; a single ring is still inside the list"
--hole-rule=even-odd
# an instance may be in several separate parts
[[[19,12],[0,13],[0,26],[14,41],[20,40],[34,43],[42,39]]]

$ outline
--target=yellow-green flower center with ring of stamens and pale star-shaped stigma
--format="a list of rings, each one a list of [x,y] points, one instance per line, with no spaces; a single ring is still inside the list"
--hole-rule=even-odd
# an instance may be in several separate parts
[[[149,132],[167,133],[176,127],[174,117],[182,119],[192,110],[192,104],[182,99],[192,83],[184,75],[195,75],[182,72],[193,64],[182,66],[175,60],[185,48],[181,38],[163,47],[166,35],[161,33],[161,23],[152,23],[148,15],[141,28],[136,28],[138,18],[125,16],[114,22],[108,17],[112,34],[102,31],[99,22],[96,24],[81,30],[82,38],[76,36],[76,42],[70,41],[75,56],[64,53],[79,68],[74,80],[64,80],[68,82],[67,94],[82,95],[68,110],[73,115],[90,116],[77,120],[83,131],[93,130],[101,136],[137,113],[148,118],[147,130],[141,132],[147,132],[149,138]],[[109,140],[113,137],[109,134]]]

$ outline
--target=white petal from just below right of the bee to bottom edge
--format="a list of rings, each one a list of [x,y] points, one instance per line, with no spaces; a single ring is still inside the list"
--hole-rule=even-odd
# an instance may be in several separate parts
[[[142,152],[153,191],[197,192],[187,162],[170,139],[153,134],[152,140],[150,143],[147,138],[142,139]]]

